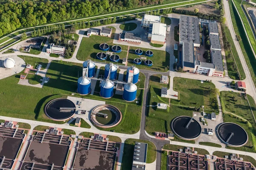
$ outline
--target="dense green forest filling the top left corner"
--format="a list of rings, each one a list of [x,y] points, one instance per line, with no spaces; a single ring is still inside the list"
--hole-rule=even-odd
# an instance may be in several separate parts
[[[161,3],[163,0],[0,0],[0,37],[22,27]]]

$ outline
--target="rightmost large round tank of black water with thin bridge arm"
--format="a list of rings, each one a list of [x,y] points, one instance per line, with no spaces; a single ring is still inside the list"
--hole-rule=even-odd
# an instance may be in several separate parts
[[[222,123],[217,133],[222,142],[233,147],[241,147],[248,142],[246,131],[235,123]]]

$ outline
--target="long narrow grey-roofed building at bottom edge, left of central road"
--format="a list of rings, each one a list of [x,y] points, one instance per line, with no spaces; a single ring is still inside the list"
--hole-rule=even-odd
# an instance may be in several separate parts
[[[135,142],[133,163],[131,170],[145,170],[148,144]]]

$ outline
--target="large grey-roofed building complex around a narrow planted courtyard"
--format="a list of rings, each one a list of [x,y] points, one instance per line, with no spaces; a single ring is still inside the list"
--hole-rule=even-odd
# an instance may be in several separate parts
[[[198,61],[195,57],[196,50],[200,47],[199,23],[201,23],[201,26],[208,26],[211,63]],[[197,17],[180,15],[179,31],[179,65],[182,65],[183,71],[223,77],[224,68],[217,23],[210,20],[199,20]]]

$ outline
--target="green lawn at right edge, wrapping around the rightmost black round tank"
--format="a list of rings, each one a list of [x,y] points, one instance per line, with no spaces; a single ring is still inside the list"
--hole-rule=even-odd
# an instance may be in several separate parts
[[[249,96],[249,95],[247,95]],[[240,95],[239,93],[233,93],[228,91],[221,91],[221,105],[224,111],[223,120],[224,122],[233,122],[241,127],[247,132],[248,142],[242,147],[230,147],[229,149],[234,150],[242,150],[245,152],[256,152],[256,124],[253,120],[253,115],[250,111],[250,107],[248,105],[247,100],[244,98],[244,95]],[[246,119],[246,121],[237,118],[236,116],[230,115],[227,113],[231,112],[236,114],[237,116],[241,116]]]

